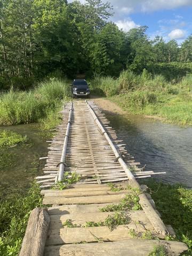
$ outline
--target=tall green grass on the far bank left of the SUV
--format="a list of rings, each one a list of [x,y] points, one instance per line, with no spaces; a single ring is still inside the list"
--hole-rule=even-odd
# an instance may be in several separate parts
[[[27,124],[46,117],[47,110],[67,99],[69,86],[62,81],[48,81],[28,92],[14,91],[0,95],[0,125]]]

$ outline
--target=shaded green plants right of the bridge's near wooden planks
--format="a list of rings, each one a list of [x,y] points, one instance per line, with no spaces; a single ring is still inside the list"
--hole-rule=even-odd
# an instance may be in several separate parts
[[[192,252],[192,190],[181,185],[166,185],[148,181],[150,194],[155,201],[157,210],[161,213],[164,223],[173,227],[176,239],[186,243]],[[158,193],[155,191],[158,190]],[[153,192],[154,191],[154,192]]]

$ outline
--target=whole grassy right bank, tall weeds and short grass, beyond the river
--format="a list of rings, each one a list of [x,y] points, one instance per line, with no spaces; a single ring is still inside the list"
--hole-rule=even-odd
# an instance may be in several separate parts
[[[95,75],[95,94],[105,95],[124,110],[136,115],[158,116],[167,122],[192,125],[192,75],[167,82],[162,75],[123,71],[114,79]]]

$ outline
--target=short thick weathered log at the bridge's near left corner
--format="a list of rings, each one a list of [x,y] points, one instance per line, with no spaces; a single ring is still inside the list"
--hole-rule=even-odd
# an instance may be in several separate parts
[[[19,256],[43,256],[49,224],[47,210],[35,208],[31,211]]]

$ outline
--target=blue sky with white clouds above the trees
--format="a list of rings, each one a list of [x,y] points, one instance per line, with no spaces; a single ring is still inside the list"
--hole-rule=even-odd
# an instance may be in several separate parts
[[[84,4],[86,0],[80,2]],[[109,2],[115,12],[111,20],[125,31],[147,25],[149,27],[147,34],[150,38],[159,35],[165,41],[176,39],[179,44],[192,34],[192,0],[109,0]]]

